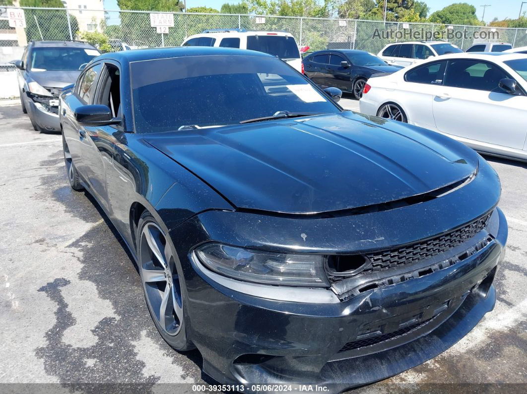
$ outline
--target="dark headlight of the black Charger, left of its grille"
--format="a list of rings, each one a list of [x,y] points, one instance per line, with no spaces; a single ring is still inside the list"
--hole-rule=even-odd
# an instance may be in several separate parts
[[[248,250],[209,243],[196,249],[204,266],[231,278],[267,285],[327,287],[324,256]]]

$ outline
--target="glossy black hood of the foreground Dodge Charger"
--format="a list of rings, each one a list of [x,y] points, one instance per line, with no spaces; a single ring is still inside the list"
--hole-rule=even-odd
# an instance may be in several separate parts
[[[450,138],[352,112],[145,140],[232,205],[288,214],[424,194],[469,177],[477,167],[475,151]]]

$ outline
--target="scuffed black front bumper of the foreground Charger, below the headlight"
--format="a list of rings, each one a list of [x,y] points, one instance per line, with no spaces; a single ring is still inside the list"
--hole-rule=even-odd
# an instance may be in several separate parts
[[[338,392],[437,356],[494,307],[492,280],[507,237],[503,214],[494,215],[492,240],[470,257],[344,301],[271,299],[280,298],[272,290],[268,298],[249,295],[214,280],[191,255],[198,275],[187,282],[190,335],[203,371],[249,391],[276,383]]]

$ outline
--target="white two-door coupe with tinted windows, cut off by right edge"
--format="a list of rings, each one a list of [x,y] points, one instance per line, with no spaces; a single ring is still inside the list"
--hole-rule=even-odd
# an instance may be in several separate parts
[[[452,54],[369,79],[359,107],[486,154],[527,160],[526,92],[525,55]]]

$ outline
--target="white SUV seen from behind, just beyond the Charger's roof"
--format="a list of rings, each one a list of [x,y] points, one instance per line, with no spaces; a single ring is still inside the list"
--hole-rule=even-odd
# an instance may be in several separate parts
[[[284,60],[302,72],[302,59],[295,37],[286,32],[246,29],[209,29],[187,37],[181,46],[216,46],[258,50]]]

